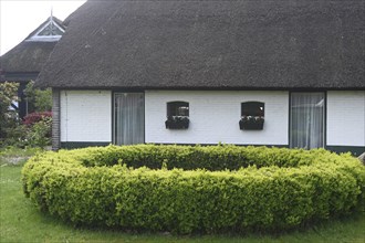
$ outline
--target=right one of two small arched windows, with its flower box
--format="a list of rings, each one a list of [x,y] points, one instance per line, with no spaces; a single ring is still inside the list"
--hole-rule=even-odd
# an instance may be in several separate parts
[[[244,102],[241,103],[241,130],[262,130],[264,122],[264,103]]]

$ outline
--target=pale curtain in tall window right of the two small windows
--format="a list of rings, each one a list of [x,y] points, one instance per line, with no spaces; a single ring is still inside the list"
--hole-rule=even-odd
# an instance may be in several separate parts
[[[324,137],[324,94],[291,94],[290,145],[292,148],[321,148]]]

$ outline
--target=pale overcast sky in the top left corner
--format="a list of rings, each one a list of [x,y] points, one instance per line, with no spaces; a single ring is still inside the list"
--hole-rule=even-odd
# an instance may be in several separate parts
[[[0,0],[0,55],[3,55],[53,15],[64,20],[85,0]]]

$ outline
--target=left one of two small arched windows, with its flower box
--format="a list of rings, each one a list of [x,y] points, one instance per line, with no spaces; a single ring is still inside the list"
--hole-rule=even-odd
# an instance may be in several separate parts
[[[166,129],[187,129],[189,127],[189,103],[167,103]]]

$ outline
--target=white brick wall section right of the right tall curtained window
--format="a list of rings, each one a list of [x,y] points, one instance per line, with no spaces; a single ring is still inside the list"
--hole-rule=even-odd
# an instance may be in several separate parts
[[[327,92],[327,145],[365,146],[365,91]]]

